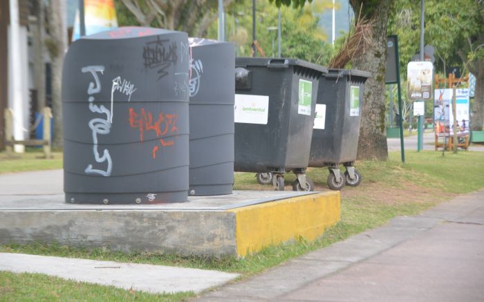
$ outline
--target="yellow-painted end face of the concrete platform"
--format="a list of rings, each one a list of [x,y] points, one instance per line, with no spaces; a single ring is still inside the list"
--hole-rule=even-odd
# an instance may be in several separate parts
[[[295,238],[315,240],[339,221],[339,191],[328,191],[228,210],[235,214],[239,256]]]

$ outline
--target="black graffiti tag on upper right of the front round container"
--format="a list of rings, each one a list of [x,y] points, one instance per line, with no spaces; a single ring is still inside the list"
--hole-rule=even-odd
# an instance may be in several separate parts
[[[178,56],[176,55],[176,42],[170,42],[169,39],[160,39],[149,41],[143,48],[143,59],[145,68],[158,68],[158,81],[168,75],[167,68],[176,65]]]

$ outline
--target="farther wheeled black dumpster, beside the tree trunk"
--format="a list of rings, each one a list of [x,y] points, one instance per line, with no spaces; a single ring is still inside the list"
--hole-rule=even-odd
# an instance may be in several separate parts
[[[316,118],[311,142],[309,167],[328,167],[328,186],[341,189],[357,186],[362,176],[354,169],[364,83],[371,73],[360,70],[330,69],[319,79]],[[346,172],[339,173],[344,164]]]

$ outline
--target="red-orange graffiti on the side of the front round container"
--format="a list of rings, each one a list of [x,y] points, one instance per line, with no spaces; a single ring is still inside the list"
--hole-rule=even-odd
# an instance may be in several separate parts
[[[140,131],[140,142],[143,142],[145,132],[154,131],[156,138],[159,138],[160,144],[156,144],[151,149],[151,157],[156,158],[156,153],[160,147],[169,147],[175,144],[174,135],[178,133],[176,128],[176,114],[158,113],[157,120],[153,120],[153,114],[146,112],[145,108],[141,108],[139,113],[133,108],[129,108],[129,126],[137,128]],[[168,138],[168,135],[170,138]]]

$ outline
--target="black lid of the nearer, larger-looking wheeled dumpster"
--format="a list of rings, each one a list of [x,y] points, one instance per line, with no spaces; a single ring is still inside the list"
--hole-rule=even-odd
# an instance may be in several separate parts
[[[265,66],[268,68],[288,68],[289,66],[301,66],[317,70],[320,73],[328,73],[328,68],[319,66],[301,59],[270,58],[270,57],[236,57],[235,67]]]

